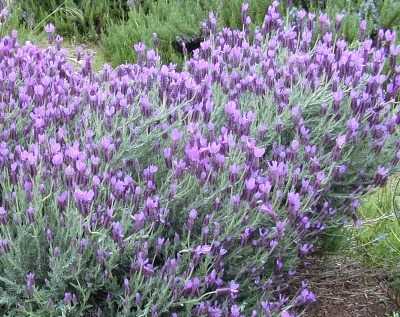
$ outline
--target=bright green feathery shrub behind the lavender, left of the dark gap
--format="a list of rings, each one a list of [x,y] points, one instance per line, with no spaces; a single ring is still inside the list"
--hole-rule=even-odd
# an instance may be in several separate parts
[[[126,21],[110,22],[102,45],[113,65],[135,60],[133,43],[144,42],[157,50],[164,62],[180,64],[183,55],[177,52],[180,40],[200,37],[200,23],[205,19],[211,1],[145,1],[132,9]]]

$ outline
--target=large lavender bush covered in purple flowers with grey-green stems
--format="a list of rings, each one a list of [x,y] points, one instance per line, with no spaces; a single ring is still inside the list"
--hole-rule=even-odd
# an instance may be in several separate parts
[[[399,48],[326,16],[216,30],[178,72],[0,42],[3,316],[294,316],[297,264],[400,158]],[[78,54],[80,55],[80,54]]]

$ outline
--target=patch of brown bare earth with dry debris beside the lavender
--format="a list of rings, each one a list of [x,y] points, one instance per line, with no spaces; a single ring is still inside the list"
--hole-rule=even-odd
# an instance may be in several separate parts
[[[384,317],[396,311],[384,272],[339,256],[312,258],[300,270],[318,300],[303,316]]]

